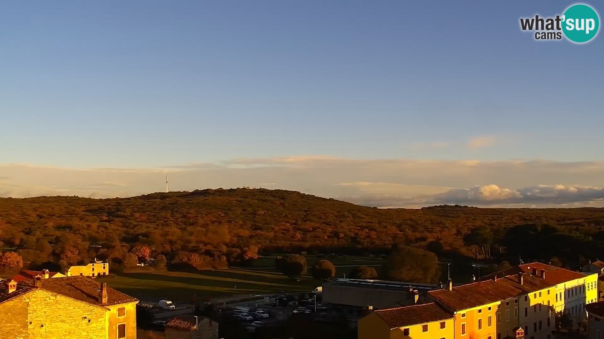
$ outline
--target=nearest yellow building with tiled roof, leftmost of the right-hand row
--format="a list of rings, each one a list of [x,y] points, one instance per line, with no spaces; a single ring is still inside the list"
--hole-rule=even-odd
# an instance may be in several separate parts
[[[436,303],[378,309],[358,325],[359,339],[454,338],[454,316]]]

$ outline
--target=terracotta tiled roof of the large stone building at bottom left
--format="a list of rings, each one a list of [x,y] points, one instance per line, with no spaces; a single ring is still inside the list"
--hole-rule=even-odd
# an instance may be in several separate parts
[[[27,282],[33,284],[33,280]],[[95,279],[85,276],[56,277],[42,280],[42,290],[63,294],[63,296],[81,300],[98,306],[111,306],[120,303],[137,302],[138,299],[130,297],[113,288],[107,288],[107,303],[98,302],[101,284]]]

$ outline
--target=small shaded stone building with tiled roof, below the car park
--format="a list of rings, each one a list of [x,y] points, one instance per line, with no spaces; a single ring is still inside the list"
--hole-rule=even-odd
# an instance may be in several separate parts
[[[179,315],[165,325],[165,339],[218,339],[218,323],[206,317]]]

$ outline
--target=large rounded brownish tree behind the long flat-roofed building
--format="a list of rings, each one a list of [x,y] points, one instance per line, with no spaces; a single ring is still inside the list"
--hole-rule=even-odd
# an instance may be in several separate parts
[[[439,259],[432,252],[401,246],[386,258],[382,274],[389,280],[434,284],[440,277]]]

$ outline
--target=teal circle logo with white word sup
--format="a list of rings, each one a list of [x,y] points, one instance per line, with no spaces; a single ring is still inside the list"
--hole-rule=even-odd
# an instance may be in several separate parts
[[[562,31],[573,42],[588,42],[598,33],[600,18],[588,5],[568,7],[562,16]]]

